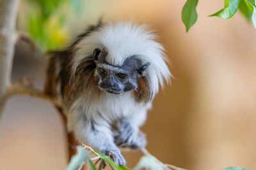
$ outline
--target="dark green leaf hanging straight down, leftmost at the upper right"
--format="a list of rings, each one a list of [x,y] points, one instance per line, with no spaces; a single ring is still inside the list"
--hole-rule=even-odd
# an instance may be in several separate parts
[[[188,0],[182,9],[182,22],[186,26],[186,32],[195,24],[197,20],[196,5],[198,0]]]

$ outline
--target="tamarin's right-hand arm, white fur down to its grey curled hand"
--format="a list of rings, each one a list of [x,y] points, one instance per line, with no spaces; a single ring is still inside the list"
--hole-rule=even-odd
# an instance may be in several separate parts
[[[141,149],[147,145],[147,139],[140,131],[140,125],[146,118],[146,111],[124,118],[115,136],[115,143],[122,148]]]

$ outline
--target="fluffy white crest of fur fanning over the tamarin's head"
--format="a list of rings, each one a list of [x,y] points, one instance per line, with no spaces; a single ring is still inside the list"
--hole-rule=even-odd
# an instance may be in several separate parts
[[[95,48],[105,48],[108,52],[106,60],[113,66],[121,66],[125,59],[136,55],[144,63],[150,63],[145,75],[154,96],[159,90],[159,84],[163,87],[164,80],[169,81],[172,75],[166,66],[164,48],[155,38],[156,36],[145,25],[136,25],[132,22],[103,25],[81,39],[75,46],[73,69],[76,70],[81,61],[91,57]]]

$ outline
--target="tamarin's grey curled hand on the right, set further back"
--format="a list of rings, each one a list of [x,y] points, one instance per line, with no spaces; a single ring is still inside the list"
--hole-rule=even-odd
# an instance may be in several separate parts
[[[147,145],[147,138],[138,127],[132,127],[129,122],[122,122],[115,136],[115,143],[121,148],[140,150]]]

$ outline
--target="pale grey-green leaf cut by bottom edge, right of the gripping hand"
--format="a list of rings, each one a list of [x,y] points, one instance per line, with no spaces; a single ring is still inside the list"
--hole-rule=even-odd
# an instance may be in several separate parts
[[[162,164],[159,164],[154,157],[147,155],[141,157],[140,162],[138,162],[132,170],[139,170],[142,168],[148,168],[150,170],[164,170]]]

